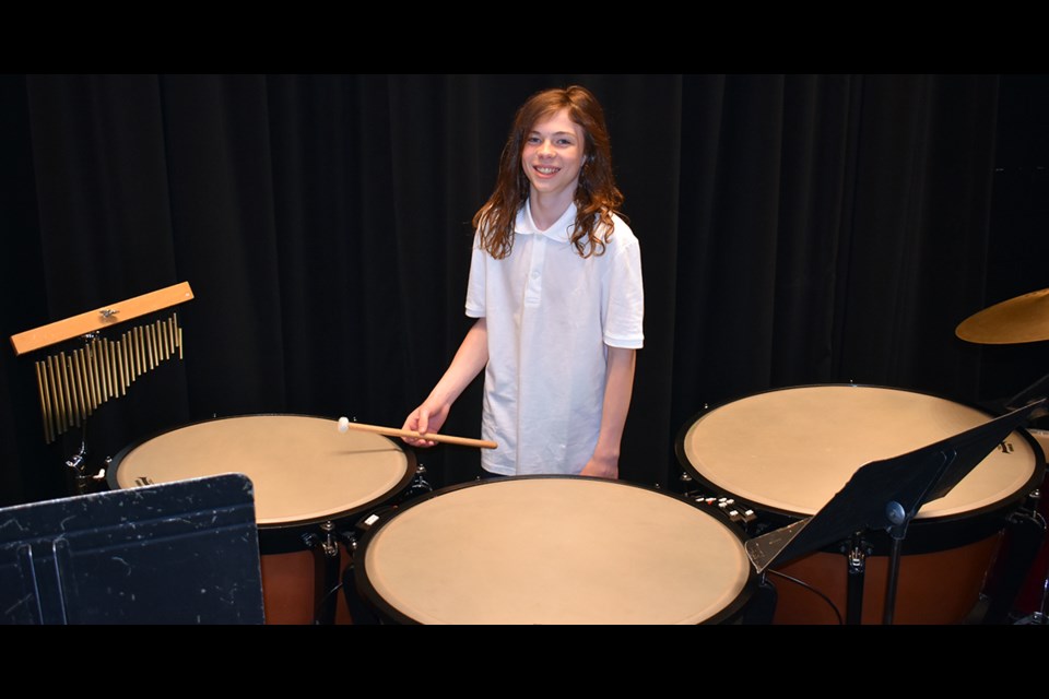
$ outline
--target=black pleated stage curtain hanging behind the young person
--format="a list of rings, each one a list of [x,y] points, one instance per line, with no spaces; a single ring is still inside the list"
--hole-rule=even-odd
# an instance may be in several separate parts
[[[675,487],[682,426],[769,388],[973,403],[1049,370],[1046,343],[1017,363],[954,335],[1049,286],[1046,212],[997,203],[1045,190],[1000,121],[1029,122],[1037,76],[3,75],[0,505],[68,495],[80,442],[44,445],[33,362],[56,348],[16,357],[7,337],[182,281],[186,358],[92,416],[96,467],[212,416],[400,426],[469,327],[469,222],[514,110],[571,83],[605,106],[641,242],[623,478]],[[480,388],[445,431],[478,435]],[[438,486],[478,463],[419,455]]]

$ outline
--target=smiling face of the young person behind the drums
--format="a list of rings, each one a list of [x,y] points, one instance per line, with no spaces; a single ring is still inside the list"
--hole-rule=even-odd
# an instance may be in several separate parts
[[[586,133],[571,120],[568,108],[540,119],[524,137],[521,168],[533,201],[571,203],[586,151]]]

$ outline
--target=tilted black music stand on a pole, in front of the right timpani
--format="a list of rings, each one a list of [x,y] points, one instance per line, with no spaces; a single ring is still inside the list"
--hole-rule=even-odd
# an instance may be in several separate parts
[[[812,517],[746,542],[751,562],[761,573],[775,561],[792,560],[856,532],[884,529],[893,544],[883,621],[892,624],[900,548],[910,521],[926,502],[950,493],[1045,402],[1041,399],[928,447],[860,466]]]

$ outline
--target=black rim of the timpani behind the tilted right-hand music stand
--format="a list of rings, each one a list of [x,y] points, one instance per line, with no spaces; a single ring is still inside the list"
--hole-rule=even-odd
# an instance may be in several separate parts
[[[919,391],[914,389],[904,389],[904,388],[885,387],[885,386],[876,386],[876,384],[862,384],[862,383],[810,383],[810,384],[775,388],[775,389],[768,389],[764,391],[757,391],[754,393],[740,395],[740,396],[723,401],[721,403],[718,403],[716,405],[706,407],[703,411],[693,415],[680,428],[677,436],[674,440],[674,452],[676,454],[679,465],[698,483],[702,483],[706,486],[715,488],[719,493],[719,495],[731,496],[733,498],[736,498],[739,500],[746,502],[750,506],[753,506],[755,509],[759,509],[762,511],[775,514],[786,520],[798,520],[803,517],[813,514],[818,508],[812,509],[812,511],[806,511],[805,508],[782,507],[778,502],[763,501],[762,498],[744,497],[744,495],[741,495],[738,490],[733,489],[734,488],[733,484],[719,482],[718,479],[712,478],[709,473],[704,473],[703,471],[700,471],[700,469],[693,463],[693,460],[686,449],[686,441],[692,430],[696,427],[696,425],[700,420],[715,414],[719,410],[723,410],[732,405],[739,405],[744,401],[758,399],[761,396],[768,396],[775,393],[788,393],[788,392],[800,392],[800,391],[806,391],[806,390],[823,390],[823,389],[859,390],[859,391],[871,391],[871,392],[881,391],[881,392],[889,392],[889,393],[896,393],[896,394],[906,394],[909,396],[920,396],[922,400],[931,399],[933,401],[942,402],[943,404],[950,404],[956,408],[959,407],[974,413],[979,413],[986,416],[988,420],[993,419],[995,417],[994,415],[992,415],[991,413],[989,413],[988,411],[981,407],[963,403],[959,401],[954,401],[928,391]],[[755,429],[761,429],[764,426],[759,425],[759,426],[756,426]],[[958,430],[958,431],[962,431],[962,430]],[[960,522],[966,520],[979,519],[988,514],[1000,513],[1003,510],[1007,509],[1010,506],[1013,506],[1022,501],[1025,497],[1027,497],[1027,495],[1030,491],[1037,488],[1045,473],[1045,464],[1046,464],[1045,457],[1041,452],[1041,449],[1038,447],[1038,443],[1036,442],[1034,437],[1032,437],[1032,435],[1023,427],[1018,427],[1010,434],[1019,436],[1019,438],[1026,445],[1027,449],[1030,450],[1030,455],[1033,459],[1030,474],[1028,477],[1026,477],[1026,479],[1023,482],[1023,484],[1019,487],[1005,493],[994,501],[986,502],[977,507],[973,507],[971,509],[966,509],[963,511],[950,511],[947,513],[933,514],[933,516],[923,514],[922,512],[919,512],[918,516],[915,518],[915,520],[911,522],[911,526],[914,528],[914,526],[923,526],[923,525],[932,525],[932,524]],[[933,443],[942,438],[943,437],[929,438],[928,443]],[[920,445],[920,446],[923,446],[923,445]],[[908,450],[905,450],[899,453],[906,453],[907,451]],[[994,452],[992,452],[992,455],[993,453]],[[885,454],[881,458],[888,458],[891,455],[898,455],[898,454]],[[863,463],[857,462],[856,467],[859,469],[860,466],[863,465]],[[841,487],[844,487],[847,479],[848,479],[848,476],[846,476],[846,478],[842,479],[840,484]],[[833,494],[834,491],[830,491],[829,495],[833,496]]]

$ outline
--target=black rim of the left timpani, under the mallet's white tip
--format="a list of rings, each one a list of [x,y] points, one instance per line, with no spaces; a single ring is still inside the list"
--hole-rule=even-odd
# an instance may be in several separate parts
[[[400,459],[403,459],[403,473],[400,472],[400,465],[393,469],[388,474],[382,474],[379,476],[379,483],[375,486],[374,490],[369,490],[363,494],[357,494],[356,500],[350,505],[343,502],[342,505],[329,505],[321,509],[321,511],[316,512],[305,512],[302,514],[294,513],[281,513],[273,517],[260,517],[258,509],[259,503],[256,502],[256,518],[259,528],[260,542],[266,542],[263,548],[273,549],[272,553],[279,550],[296,550],[303,548],[303,543],[298,540],[298,532],[314,528],[317,524],[323,524],[326,522],[337,522],[342,521],[347,518],[353,518],[355,516],[361,516],[366,512],[374,511],[375,509],[381,507],[385,503],[388,503],[390,500],[396,498],[399,494],[403,493],[412,478],[416,473],[416,459],[414,451],[408,446],[400,443],[399,440],[393,440],[388,437],[367,434],[367,433],[352,433],[352,434],[339,434],[338,431],[338,419],[331,417],[325,417],[319,415],[309,415],[300,413],[250,413],[244,415],[227,415],[222,417],[211,417],[201,420],[191,420],[175,427],[165,428],[158,430],[154,434],[151,434],[146,437],[138,439],[122,450],[120,450],[116,457],[114,457],[107,467],[106,467],[106,483],[110,490],[117,489],[128,489],[138,487],[139,485],[145,484],[129,484],[121,483],[121,466],[128,463],[129,459],[133,459],[135,452],[142,448],[149,447],[150,445],[158,445],[160,440],[163,440],[166,437],[172,437],[176,434],[187,435],[195,429],[205,429],[211,426],[215,426],[222,423],[238,423],[247,424],[249,420],[273,420],[279,419],[285,422],[286,424],[293,424],[298,420],[306,420],[304,425],[308,425],[313,429],[325,430],[330,428],[331,443],[338,443],[339,441],[349,442],[346,439],[358,439],[358,436],[367,435],[367,440],[369,443],[373,443],[381,451],[397,451],[396,454],[398,462]],[[252,486],[256,490],[256,497],[259,494],[260,484],[256,483],[258,479],[258,474],[252,478],[251,473],[245,473],[249,471],[244,470],[226,470],[217,467],[214,470],[214,473],[211,475],[219,475],[220,473],[241,473],[252,482]],[[196,477],[193,475],[187,475],[188,477]],[[166,478],[163,482],[178,481],[179,478]],[[276,544],[274,548],[274,544]]]

